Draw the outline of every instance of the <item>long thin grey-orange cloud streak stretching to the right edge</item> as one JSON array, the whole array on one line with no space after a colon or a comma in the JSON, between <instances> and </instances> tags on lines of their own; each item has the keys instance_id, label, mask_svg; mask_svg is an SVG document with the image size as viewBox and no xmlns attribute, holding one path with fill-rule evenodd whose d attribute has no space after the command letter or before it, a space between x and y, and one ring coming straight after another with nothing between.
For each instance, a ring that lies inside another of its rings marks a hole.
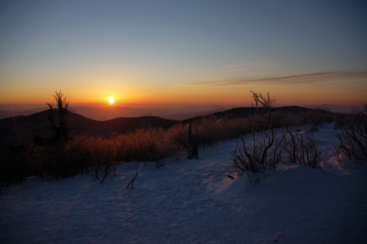
<instances>
[{"instance_id":1,"label":"long thin grey-orange cloud streak stretching to the right edge","mask_svg":"<svg viewBox=\"0 0 367 244\"><path fill-rule=\"evenodd\" d=\"M181 84L174 86L185 85L200 85L200 86L228 86L228 85L290 85L290 84L314 84L324 81L335 80L350 80L358 78L367 78L367 71L363 72L320 72L308 74L295 74L290 76L275 76L275 77L258 77L252 79L228 79L215 80L199 83Z\"/></svg>"}]
</instances>

